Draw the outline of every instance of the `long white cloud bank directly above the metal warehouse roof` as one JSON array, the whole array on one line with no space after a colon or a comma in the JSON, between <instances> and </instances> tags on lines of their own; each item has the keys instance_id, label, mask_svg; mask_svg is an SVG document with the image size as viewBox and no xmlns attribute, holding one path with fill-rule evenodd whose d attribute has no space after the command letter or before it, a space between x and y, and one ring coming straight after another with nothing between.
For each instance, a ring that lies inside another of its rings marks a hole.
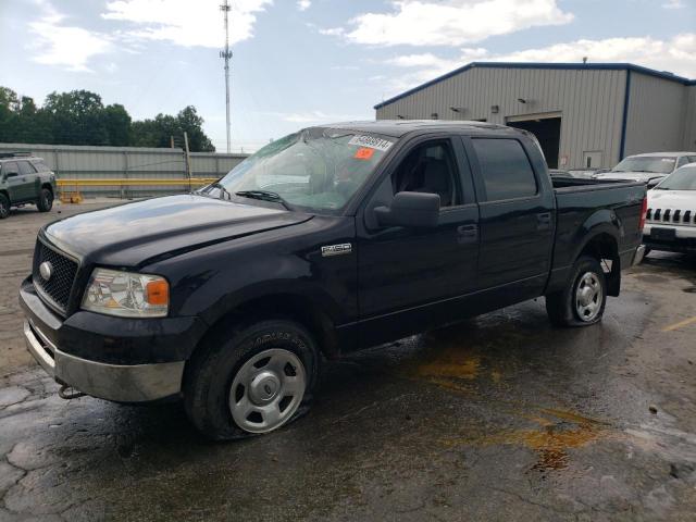
<instances>
[{"instance_id":1,"label":"long white cloud bank directly above the metal warehouse roof","mask_svg":"<svg viewBox=\"0 0 696 522\"><path fill-rule=\"evenodd\" d=\"M409 70L407 74L396 76L398 79L389 83L387 87L393 92L399 92L473 61L581 63L583 57L587 57L589 63L629 62L696 78L696 33L676 35L669 40L650 37L583 39L511 53L494 53L482 48L463 48L453 59L437 57L433 53L406 54L386 61L389 65Z\"/></svg>"}]
</instances>

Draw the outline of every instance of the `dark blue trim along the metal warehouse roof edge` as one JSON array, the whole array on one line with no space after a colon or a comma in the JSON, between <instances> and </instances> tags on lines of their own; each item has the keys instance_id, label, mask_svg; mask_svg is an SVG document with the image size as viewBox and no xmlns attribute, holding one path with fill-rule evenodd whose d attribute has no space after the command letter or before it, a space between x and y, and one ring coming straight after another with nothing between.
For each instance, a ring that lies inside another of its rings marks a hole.
<instances>
[{"instance_id":1,"label":"dark blue trim along the metal warehouse roof edge","mask_svg":"<svg viewBox=\"0 0 696 522\"><path fill-rule=\"evenodd\" d=\"M418 87L413 87L412 89L407 90L406 92L401 92L388 100L383 101L382 103L377 103L374 105L374 109L381 109L385 105L394 103L401 98L406 98L407 96L412 95L413 92L418 92L419 90L423 90L432 85L439 84L440 82L451 78L452 76L457 76L458 74L465 73L471 69L543 69L543 70L557 70L557 71L633 71L635 73L647 74L648 76L655 76L657 78L669 79L671 82L676 82L682 85L696 85L696 79L688 79L682 76L676 76L671 73L666 73L662 71L656 71L654 69L644 67L642 65L634 65L633 63L517 63L517 62L472 62L463 67L456 69L455 71L450 71L443 76L438 76L437 78L431 79Z\"/></svg>"}]
</instances>

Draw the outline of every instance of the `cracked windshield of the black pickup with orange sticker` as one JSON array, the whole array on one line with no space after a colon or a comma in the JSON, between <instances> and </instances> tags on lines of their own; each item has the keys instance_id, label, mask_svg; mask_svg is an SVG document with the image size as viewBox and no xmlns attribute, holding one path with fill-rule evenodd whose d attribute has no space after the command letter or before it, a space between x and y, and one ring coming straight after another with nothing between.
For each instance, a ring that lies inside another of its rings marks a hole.
<instances>
[{"instance_id":1,"label":"cracked windshield of the black pickup with orange sticker","mask_svg":"<svg viewBox=\"0 0 696 522\"><path fill-rule=\"evenodd\" d=\"M263 147L199 194L338 211L394 145L391 138L312 127Z\"/></svg>"}]
</instances>

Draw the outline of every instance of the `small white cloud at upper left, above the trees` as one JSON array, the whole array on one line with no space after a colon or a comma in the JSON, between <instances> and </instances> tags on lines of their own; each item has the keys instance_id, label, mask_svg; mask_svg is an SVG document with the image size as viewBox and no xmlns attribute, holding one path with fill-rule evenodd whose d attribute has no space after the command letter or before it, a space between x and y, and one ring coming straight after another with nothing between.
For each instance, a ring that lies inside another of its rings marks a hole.
<instances>
[{"instance_id":1,"label":"small white cloud at upper left, above the trees","mask_svg":"<svg viewBox=\"0 0 696 522\"><path fill-rule=\"evenodd\" d=\"M47 1L36 2L44 15L29 22L32 60L75 72L91 72L92 57L113 50L110 37L65 24L65 16Z\"/></svg>"}]
</instances>

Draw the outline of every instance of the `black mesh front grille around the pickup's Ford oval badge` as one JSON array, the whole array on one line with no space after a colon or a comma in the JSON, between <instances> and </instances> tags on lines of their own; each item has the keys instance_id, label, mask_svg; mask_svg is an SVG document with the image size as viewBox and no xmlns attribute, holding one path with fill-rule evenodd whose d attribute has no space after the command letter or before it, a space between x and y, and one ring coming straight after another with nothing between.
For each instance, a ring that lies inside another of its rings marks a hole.
<instances>
[{"instance_id":1,"label":"black mesh front grille around the pickup's Ford oval badge","mask_svg":"<svg viewBox=\"0 0 696 522\"><path fill-rule=\"evenodd\" d=\"M48 261L53 268L49 281L44 279L39 266ZM67 309L67 301L73 289L73 283L77 275L77 262L47 247L40 240L36 241L34 250L34 286L44 298L48 298L49 304L53 304L61 312Z\"/></svg>"}]
</instances>

